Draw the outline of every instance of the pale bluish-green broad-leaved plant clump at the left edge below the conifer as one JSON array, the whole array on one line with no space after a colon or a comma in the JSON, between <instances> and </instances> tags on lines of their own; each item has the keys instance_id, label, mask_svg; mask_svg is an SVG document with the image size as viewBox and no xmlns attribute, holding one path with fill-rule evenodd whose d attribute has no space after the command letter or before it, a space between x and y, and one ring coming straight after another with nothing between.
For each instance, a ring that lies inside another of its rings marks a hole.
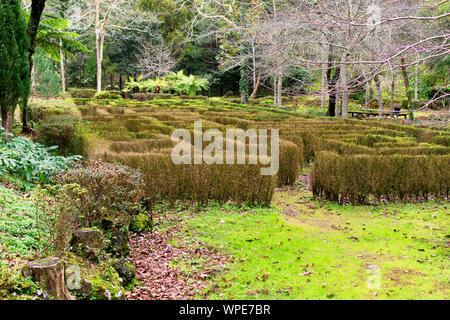
<instances>
[{"instance_id":1,"label":"pale bluish-green broad-leaved plant clump at the left edge below the conifer","mask_svg":"<svg viewBox=\"0 0 450 320\"><path fill-rule=\"evenodd\" d=\"M25 137L5 139L0 128L0 173L23 180L26 186L45 183L57 171L68 169L80 156L62 157L53 153L58 147L46 148Z\"/></svg>"}]
</instances>

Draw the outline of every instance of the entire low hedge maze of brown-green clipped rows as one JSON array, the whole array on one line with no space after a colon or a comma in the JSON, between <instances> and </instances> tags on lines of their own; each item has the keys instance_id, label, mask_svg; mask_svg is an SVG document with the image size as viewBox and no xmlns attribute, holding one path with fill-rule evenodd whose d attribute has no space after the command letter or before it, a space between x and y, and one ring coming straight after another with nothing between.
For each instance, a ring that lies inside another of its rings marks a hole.
<instances>
[{"instance_id":1,"label":"entire low hedge maze of brown-green clipped rows","mask_svg":"<svg viewBox=\"0 0 450 320\"><path fill-rule=\"evenodd\" d=\"M141 169L149 197L268 204L274 188L293 185L305 163L313 165L314 195L339 203L418 201L449 193L448 129L311 118L203 97L75 102L88 121L89 157ZM260 163L174 165L172 132L182 128L193 133L197 120L203 121L203 130L279 129L278 175L261 176Z\"/></svg>"}]
</instances>

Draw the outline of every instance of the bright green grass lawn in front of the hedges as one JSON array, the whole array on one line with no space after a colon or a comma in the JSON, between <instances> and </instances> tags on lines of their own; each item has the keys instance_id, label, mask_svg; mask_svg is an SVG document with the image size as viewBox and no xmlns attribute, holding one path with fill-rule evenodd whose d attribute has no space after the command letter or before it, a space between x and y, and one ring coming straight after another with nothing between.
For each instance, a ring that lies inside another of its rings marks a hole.
<instances>
[{"instance_id":1,"label":"bright green grass lawn in front of the hedges","mask_svg":"<svg viewBox=\"0 0 450 320\"><path fill-rule=\"evenodd\" d=\"M189 213L186 234L234 258L209 298L448 298L448 202L342 207L297 189L273 204Z\"/></svg>"}]
</instances>

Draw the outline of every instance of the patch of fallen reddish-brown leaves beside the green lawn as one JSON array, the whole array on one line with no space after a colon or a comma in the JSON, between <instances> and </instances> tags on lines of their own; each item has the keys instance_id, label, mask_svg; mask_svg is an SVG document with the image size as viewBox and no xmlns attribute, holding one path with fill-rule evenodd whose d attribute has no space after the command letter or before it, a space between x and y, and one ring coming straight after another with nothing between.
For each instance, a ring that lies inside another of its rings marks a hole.
<instances>
[{"instance_id":1,"label":"patch of fallen reddish-brown leaves beside the green lawn","mask_svg":"<svg viewBox=\"0 0 450 320\"><path fill-rule=\"evenodd\" d=\"M227 264L228 257L213 248L182 236L183 222L175 214L156 217L156 225L171 227L131 239L131 257L136 265L138 285L127 292L127 300L189 300L202 295L207 280ZM183 242L177 240L183 239ZM189 239L189 240L187 240ZM177 243L177 244L172 244ZM199 271L184 272L182 266L197 265Z\"/></svg>"}]
</instances>

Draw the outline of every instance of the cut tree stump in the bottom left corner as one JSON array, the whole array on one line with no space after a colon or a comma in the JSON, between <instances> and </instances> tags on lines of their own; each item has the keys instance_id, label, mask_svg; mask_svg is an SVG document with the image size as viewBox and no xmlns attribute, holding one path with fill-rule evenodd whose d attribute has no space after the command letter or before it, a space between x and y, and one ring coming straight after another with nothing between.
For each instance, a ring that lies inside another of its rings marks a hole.
<instances>
[{"instance_id":1,"label":"cut tree stump in the bottom left corner","mask_svg":"<svg viewBox=\"0 0 450 320\"><path fill-rule=\"evenodd\" d=\"M75 300L64 281L64 262L56 257L29 262L24 269L25 276L32 276L43 283L55 300Z\"/></svg>"}]
</instances>

